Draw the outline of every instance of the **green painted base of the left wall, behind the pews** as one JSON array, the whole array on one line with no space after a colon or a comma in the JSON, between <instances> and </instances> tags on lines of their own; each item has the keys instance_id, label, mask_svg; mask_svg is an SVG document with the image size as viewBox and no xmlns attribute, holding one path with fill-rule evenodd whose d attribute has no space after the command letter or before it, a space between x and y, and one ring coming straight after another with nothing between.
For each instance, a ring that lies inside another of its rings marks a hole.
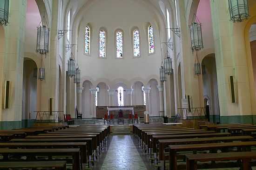
<instances>
[{"instance_id":1,"label":"green painted base of the left wall, behind the pews","mask_svg":"<svg viewBox=\"0 0 256 170\"><path fill-rule=\"evenodd\" d=\"M31 127L34 124L34 120L21 120L21 121L0 121L1 130L20 129L25 127Z\"/></svg>"}]
</instances>

